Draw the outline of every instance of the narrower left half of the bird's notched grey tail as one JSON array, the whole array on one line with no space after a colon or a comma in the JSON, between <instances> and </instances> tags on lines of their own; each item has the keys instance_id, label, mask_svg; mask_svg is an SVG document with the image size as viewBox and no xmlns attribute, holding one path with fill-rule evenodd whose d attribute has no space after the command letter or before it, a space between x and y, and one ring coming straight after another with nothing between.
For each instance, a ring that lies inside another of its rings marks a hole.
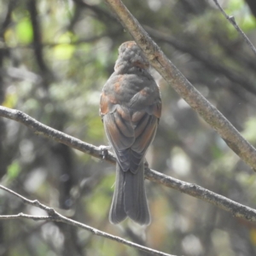
<instances>
[{"instance_id":1,"label":"narrower left half of the bird's notched grey tail","mask_svg":"<svg viewBox=\"0 0 256 256\"><path fill-rule=\"evenodd\" d=\"M119 224L119 222L127 217L124 207L124 183L125 172L122 171L121 167L117 163L113 201L109 212L109 221L112 224Z\"/></svg>"}]
</instances>

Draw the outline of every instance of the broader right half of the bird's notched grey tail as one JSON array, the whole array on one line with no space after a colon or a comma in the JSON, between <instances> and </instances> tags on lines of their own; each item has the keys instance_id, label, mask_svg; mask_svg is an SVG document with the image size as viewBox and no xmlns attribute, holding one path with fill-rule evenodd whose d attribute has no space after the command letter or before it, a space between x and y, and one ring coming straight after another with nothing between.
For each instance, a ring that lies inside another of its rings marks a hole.
<instances>
[{"instance_id":1,"label":"broader right half of the bird's notched grey tail","mask_svg":"<svg viewBox=\"0 0 256 256\"><path fill-rule=\"evenodd\" d=\"M144 187L144 164L138 167L137 173L125 172L124 199L125 212L138 224L150 224L147 196Z\"/></svg>"}]
</instances>

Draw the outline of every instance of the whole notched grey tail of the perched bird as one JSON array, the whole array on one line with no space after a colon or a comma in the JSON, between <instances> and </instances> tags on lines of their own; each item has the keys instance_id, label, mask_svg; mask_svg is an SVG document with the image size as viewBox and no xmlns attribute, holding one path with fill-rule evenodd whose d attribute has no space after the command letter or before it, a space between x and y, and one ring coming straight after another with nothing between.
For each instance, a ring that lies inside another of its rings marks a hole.
<instances>
[{"instance_id":1,"label":"whole notched grey tail of the perched bird","mask_svg":"<svg viewBox=\"0 0 256 256\"><path fill-rule=\"evenodd\" d=\"M109 212L109 220L118 224L126 217L138 224L150 224L147 197L144 188L144 165L138 167L137 173L122 171L117 163L115 189Z\"/></svg>"}]
</instances>

